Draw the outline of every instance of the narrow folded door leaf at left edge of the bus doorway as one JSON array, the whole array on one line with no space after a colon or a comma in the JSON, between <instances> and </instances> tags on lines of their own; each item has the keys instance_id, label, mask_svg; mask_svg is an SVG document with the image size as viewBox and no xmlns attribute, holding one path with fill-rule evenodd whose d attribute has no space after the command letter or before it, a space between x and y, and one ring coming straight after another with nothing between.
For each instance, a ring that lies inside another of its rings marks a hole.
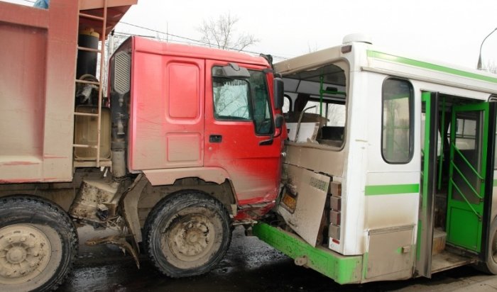
<instances>
[{"instance_id":1,"label":"narrow folded door leaf at left edge of the bus doorway","mask_svg":"<svg viewBox=\"0 0 497 292\"><path fill-rule=\"evenodd\" d=\"M419 221L417 223L416 274L430 278L432 274L433 220L435 211L438 100L437 93L423 92L422 151ZM424 131L424 133L423 133Z\"/></svg>"}]
</instances>

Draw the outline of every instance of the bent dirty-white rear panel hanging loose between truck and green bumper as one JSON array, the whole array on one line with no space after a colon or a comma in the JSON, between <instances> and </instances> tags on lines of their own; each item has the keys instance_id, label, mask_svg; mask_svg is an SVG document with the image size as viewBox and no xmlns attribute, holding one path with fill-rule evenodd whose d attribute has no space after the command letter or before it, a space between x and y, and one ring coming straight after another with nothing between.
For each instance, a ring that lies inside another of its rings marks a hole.
<instances>
[{"instance_id":1,"label":"bent dirty-white rear panel hanging loose between truck and green bumper","mask_svg":"<svg viewBox=\"0 0 497 292\"><path fill-rule=\"evenodd\" d=\"M282 190L277 212L303 240L315 247L326 203L329 176L286 165L288 183Z\"/></svg>"}]
</instances>

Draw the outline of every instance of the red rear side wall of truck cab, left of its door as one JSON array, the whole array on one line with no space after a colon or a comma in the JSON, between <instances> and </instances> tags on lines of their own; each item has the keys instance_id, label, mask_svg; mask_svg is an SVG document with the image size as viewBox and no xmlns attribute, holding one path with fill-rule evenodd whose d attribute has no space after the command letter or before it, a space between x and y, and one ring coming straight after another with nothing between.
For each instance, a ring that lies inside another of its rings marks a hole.
<instances>
[{"instance_id":1,"label":"red rear side wall of truck cab, left of its door","mask_svg":"<svg viewBox=\"0 0 497 292\"><path fill-rule=\"evenodd\" d=\"M153 45L136 39L130 169L202 167L204 60L159 55Z\"/></svg>"}]
</instances>

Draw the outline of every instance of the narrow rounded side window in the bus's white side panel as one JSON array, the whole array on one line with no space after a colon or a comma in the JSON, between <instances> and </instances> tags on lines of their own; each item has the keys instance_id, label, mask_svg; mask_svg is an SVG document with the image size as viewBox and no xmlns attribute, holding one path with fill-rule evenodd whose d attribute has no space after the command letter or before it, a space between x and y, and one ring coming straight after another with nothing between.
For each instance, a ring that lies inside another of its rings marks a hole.
<instances>
[{"instance_id":1,"label":"narrow rounded side window in the bus's white side panel","mask_svg":"<svg viewBox=\"0 0 497 292\"><path fill-rule=\"evenodd\" d=\"M413 86L386 79L382 90L381 154L388 163L408 163L413 157Z\"/></svg>"}]
</instances>

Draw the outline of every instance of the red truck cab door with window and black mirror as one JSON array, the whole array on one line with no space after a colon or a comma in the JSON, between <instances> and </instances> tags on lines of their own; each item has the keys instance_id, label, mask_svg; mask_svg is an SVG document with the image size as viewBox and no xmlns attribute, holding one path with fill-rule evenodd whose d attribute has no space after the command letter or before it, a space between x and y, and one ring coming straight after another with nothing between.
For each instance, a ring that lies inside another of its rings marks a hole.
<instances>
[{"instance_id":1,"label":"red truck cab door with window and black mirror","mask_svg":"<svg viewBox=\"0 0 497 292\"><path fill-rule=\"evenodd\" d=\"M251 77L221 77L226 62L207 60L205 69L204 166L225 169L239 205L273 201L280 176L280 137L263 67L239 64ZM214 72L214 74L213 74ZM269 82L271 84L269 84ZM270 85L270 86L268 86Z\"/></svg>"}]
</instances>

